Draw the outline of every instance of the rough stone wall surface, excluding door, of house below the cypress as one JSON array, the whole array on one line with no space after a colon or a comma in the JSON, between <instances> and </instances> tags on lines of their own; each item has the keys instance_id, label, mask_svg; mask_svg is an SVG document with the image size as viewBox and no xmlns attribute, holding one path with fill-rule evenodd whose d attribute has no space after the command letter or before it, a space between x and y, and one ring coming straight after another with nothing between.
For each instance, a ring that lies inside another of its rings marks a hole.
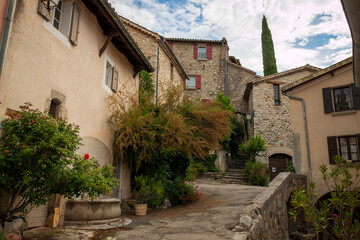
<instances>
[{"instance_id":1,"label":"rough stone wall surface, excluding door, of house below the cypress","mask_svg":"<svg viewBox=\"0 0 360 240\"><path fill-rule=\"evenodd\" d=\"M268 164L269 157L276 153L287 154L294 157L293 135L290 124L289 98L280 92L280 105L274 102L273 84L279 84L280 89L311 72L300 71L283 77L278 77L269 82L255 83L252 91L252 109L254 117L252 126L254 135L259 134L267 144L267 151L258 157L258 160ZM260 79L261 81L261 79Z\"/></svg>"}]
</instances>

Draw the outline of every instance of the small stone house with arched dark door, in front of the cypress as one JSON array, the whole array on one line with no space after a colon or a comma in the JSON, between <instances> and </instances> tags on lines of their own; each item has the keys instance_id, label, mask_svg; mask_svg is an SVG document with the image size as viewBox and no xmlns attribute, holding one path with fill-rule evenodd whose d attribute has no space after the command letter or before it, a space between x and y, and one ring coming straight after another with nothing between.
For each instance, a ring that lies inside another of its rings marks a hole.
<instances>
[{"instance_id":1,"label":"small stone house with arched dark door, in front of the cypress","mask_svg":"<svg viewBox=\"0 0 360 240\"><path fill-rule=\"evenodd\" d=\"M269 165L270 179L285 170L285 159L294 158L295 139L290 124L289 99L281 94L280 89L318 70L305 65L259 78L247 85L244 98L249 104L251 134L259 134L267 143L267 151L258 160Z\"/></svg>"}]
</instances>

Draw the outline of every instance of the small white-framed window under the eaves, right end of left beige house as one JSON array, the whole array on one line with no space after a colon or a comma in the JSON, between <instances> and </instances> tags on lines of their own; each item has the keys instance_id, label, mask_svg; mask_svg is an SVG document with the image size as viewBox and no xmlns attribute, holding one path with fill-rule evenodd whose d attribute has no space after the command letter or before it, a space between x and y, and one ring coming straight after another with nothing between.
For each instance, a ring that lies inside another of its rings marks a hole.
<instances>
[{"instance_id":1,"label":"small white-framed window under the eaves, right end of left beige house","mask_svg":"<svg viewBox=\"0 0 360 240\"><path fill-rule=\"evenodd\" d=\"M114 62L105 54L105 72L103 88L109 93L117 92L119 84L119 71L114 67Z\"/></svg>"}]
</instances>

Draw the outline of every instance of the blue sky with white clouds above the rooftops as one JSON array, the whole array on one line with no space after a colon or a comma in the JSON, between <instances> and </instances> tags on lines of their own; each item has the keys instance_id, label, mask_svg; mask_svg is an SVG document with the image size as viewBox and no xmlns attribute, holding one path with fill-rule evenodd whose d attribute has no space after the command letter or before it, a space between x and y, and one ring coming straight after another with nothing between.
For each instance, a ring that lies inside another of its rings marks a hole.
<instances>
[{"instance_id":1,"label":"blue sky with white clouds above the rooftops","mask_svg":"<svg viewBox=\"0 0 360 240\"><path fill-rule=\"evenodd\" d=\"M118 14L164 37L228 41L229 54L263 75L265 15L278 72L324 68L352 55L340 0L108 0Z\"/></svg>"}]
</instances>

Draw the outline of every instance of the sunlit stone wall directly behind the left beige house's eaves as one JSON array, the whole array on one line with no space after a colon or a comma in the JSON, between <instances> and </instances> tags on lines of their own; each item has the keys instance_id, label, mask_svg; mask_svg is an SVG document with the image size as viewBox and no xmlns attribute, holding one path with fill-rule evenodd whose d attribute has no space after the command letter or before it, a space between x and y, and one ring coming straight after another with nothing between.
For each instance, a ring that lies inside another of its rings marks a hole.
<instances>
[{"instance_id":1,"label":"sunlit stone wall directly behind the left beige house's eaves","mask_svg":"<svg viewBox=\"0 0 360 240\"><path fill-rule=\"evenodd\" d=\"M155 34L148 34L146 33L146 30L141 30L139 27L135 27L134 24L128 23L126 20L123 22L131 37L135 40L151 65L155 68L152 77L154 80L154 87L156 87L156 73L158 66L157 51L158 47L161 45L160 37ZM173 65L173 71L171 71L171 65ZM170 60L168 53L166 52L166 46L163 44L159 54L159 100L163 100L163 93L165 93L171 85L182 86L184 80L185 78L181 77L175 63Z\"/></svg>"}]
</instances>

